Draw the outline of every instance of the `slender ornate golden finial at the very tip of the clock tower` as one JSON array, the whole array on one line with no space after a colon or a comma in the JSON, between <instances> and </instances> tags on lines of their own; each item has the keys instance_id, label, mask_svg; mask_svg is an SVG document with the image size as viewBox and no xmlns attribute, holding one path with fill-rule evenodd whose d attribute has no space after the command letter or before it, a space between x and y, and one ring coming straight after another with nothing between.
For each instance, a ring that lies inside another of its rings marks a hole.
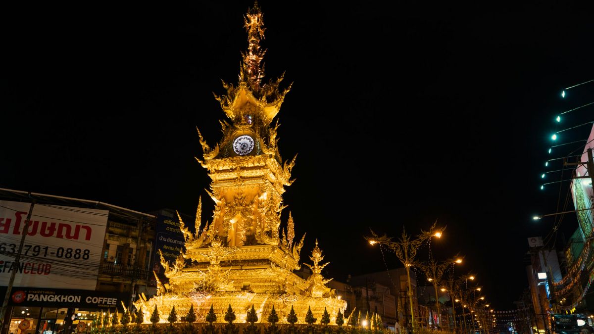
<instances>
[{"instance_id":1,"label":"slender ornate golden finial at the very tip of the clock tower","mask_svg":"<svg viewBox=\"0 0 594 334\"><path fill-rule=\"evenodd\" d=\"M258 1L254 1L254 7L248 8L244 17L245 30L248 32L248 50L243 53L244 62L239 80L245 80L254 90L260 89L260 81L264 77L264 59L266 50L260 50L260 40L264 39L263 14L258 7ZM243 78L242 78L243 77Z\"/></svg>"}]
</instances>

